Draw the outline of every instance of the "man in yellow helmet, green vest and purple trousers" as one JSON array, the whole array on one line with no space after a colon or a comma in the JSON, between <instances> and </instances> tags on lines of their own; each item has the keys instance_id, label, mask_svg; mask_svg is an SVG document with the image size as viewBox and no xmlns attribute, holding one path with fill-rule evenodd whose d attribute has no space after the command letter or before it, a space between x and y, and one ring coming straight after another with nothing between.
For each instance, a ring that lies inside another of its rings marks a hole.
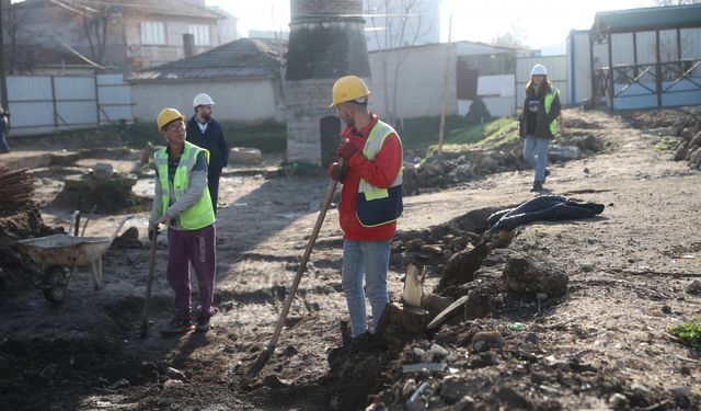
<instances>
[{"instance_id":1,"label":"man in yellow helmet, green vest and purple trousers","mask_svg":"<svg viewBox=\"0 0 701 411\"><path fill-rule=\"evenodd\" d=\"M153 155L156 191L149 217L149 238L159 225L168 227L168 283L175 294L175 317L162 334L209 330L215 309L217 254L215 212L207 189L209 151L185 141L185 117L175 109L158 115L158 130L168 146ZM197 274L199 309L193 327L189 265Z\"/></svg>"}]
</instances>

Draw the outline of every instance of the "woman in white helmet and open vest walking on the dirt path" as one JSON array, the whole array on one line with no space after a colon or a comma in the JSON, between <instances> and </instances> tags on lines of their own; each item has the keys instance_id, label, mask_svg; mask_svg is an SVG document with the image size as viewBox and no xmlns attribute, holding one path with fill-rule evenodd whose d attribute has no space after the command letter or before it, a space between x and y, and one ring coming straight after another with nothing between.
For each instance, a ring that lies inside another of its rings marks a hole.
<instances>
[{"instance_id":1,"label":"woman in white helmet and open vest walking on the dirt path","mask_svg":"<svg viewBox=\"0 0 701 411\"><path fill-rule=\"evenodd\" d=\"M526 83L526 100L520 117L519 132L524 138L524 158L531 164L536 175L532 192L543 190L548 171L548 146L558 135L560 117L560 90L548 79L543 65L536 65Z\"/></svg>"}]
</instances>

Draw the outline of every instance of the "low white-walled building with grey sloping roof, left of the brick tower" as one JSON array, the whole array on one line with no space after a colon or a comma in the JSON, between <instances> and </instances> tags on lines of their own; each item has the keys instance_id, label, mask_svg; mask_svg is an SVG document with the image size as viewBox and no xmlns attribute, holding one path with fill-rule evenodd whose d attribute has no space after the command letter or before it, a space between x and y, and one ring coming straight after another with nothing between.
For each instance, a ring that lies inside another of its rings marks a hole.
<instances>
[{"instance_id":1,"label":"low white-walled building with grey sloping roof, left of the brick tower","mask_svg":"<svg viewBox=\"0 0 701 411\"><path fill-rule=\"evenodd\" d=\"M151 122L163 107L193 113L193 98L208 93L216 118L237 123L283 122L277 42L241 38L209 52L135 72L134 119Z\"/></svg>"}]
</instances>

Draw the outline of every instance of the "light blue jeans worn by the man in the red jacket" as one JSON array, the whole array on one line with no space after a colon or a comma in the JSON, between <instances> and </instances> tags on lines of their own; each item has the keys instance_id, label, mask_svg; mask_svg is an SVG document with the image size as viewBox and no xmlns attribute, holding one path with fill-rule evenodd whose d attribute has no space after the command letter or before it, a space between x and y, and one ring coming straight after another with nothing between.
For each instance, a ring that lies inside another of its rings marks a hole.
<instances>
[{"instance_id":1,"label":"light blue jeans worn by the man in the red jacket","mask_svg":"<svg viewBox=\"0 0 701 411\"><path fill-rule=\"evenodd\" d=\"M343 293L348 304L350 316L350 336L357 336L368 330L365 310L365 292L363 277L367 288L370 307L372 307L372 328L384 311L390 298L387 294L387 271L390 265L391 241L352 241L343 240Z\"/></svg>"}]
</instances>

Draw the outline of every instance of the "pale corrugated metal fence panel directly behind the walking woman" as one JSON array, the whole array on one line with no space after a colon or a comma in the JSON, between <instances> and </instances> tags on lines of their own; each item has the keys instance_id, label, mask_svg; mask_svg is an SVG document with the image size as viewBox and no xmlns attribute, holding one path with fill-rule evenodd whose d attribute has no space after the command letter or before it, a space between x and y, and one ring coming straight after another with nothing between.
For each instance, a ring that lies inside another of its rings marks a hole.
<instances>
[{"instance_id":1,"label":"pale corrugated metal fence panel directly behind the walking woman","mask_svg":"<svg viewBox=\"0 0 701 411\"><path fill-rule=\"evenodd\" d=\"M516 59L516 106L524 106L526 83L530 80L530 70L540 62L548 69L548 78L560 89L560 102L564 105L567 98L567 56L519 57Z\"/></svg>"}]
</instances>

